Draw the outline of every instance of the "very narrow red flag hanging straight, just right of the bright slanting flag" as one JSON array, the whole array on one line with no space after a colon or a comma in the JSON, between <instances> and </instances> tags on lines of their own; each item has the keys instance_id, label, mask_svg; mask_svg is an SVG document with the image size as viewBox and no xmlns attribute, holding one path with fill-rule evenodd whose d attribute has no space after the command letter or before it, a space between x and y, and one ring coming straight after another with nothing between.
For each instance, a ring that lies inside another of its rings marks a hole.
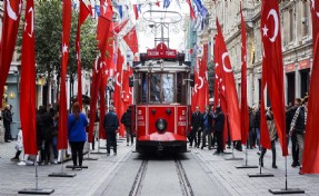
<instances>
[{"instance_id":1,"label":"very narrow red flag hanging straight, just right of the bright slanting flag","mask_svg":"<svg viewBox=\"0 0 319 196\"><path fill-rule=\"evenodd\" d=\"M240 2L241 19L241 89L240 89L240 119L241 119L241 143L247 143L249 134L249 111L247 104L247 48L246 48L246 24L242 16L242 4Z\"/></svg>"}]
</instances>

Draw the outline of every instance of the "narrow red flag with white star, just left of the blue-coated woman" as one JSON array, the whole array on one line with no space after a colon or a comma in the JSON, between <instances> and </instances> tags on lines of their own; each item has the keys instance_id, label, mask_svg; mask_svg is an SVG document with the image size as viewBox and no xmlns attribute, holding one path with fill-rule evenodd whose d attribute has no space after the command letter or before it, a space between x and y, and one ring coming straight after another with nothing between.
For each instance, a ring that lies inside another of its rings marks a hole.
<instances>
[{"instance_id":1,"label":"narrow red flag with white star, just left of the blue-coated woman","mask_svg":"<svg viewBox=\"0 0 319 196\"><path fill-rule=\"evenodd\" d=\"M62 65L61 65L61 85L60 85L60 106L59 106L59 134L58 149L68 148L68 111L67 111L67 66L69 58L69 40L71 29L71 0L63 0L62 8Z\"/></svg>"}]
</instances>

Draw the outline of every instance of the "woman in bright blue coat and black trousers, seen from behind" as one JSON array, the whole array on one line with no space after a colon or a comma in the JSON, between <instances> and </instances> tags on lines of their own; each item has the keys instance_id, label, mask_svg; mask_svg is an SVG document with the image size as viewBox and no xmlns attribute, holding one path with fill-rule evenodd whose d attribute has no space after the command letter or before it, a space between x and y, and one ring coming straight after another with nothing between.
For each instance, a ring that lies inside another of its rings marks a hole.
<instances>
[{"instance_id":1,"label":"woman in bright blue coat and black trousers, seen from behind","mask_svg":"<svg viewBox=\"0 0 319 196\"><path fill-rule=\"evenodd\" d=\"M81 170L83 160L83 147L87 141L86 127L88 126L88 119L84 114L81 112L79 102L74 102L72 106L72 112L68 117L68 135L71 146L73 168ZM78 163L79 160L79 163Z\"/></svg>"}]
</instances>

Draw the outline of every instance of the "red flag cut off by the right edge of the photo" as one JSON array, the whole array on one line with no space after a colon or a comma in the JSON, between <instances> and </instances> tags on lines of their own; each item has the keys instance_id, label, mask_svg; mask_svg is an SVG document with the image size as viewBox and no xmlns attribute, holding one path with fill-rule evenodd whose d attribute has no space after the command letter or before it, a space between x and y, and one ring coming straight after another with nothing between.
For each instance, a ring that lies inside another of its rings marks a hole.
<instances>
[{"instance_id":1,"label":"red flag cut off by the right edge of the photo","mask_svg":"<svg viewBox=\"0 0 319 196\"><path fill-rule=\"evenodd\" d=\"M311 1L313 63L302 157L302 174L319 174L319 1Z\"/></svg>"}]
</instances>

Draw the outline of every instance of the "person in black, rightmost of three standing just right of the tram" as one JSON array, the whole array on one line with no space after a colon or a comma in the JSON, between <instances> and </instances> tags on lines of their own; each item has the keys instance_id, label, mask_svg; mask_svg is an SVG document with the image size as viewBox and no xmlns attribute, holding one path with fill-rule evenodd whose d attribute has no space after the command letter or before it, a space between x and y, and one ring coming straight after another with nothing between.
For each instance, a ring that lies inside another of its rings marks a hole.
<instances>
[{"instance_id":1,"label":"person in black, rightmost of three standing just right of the tram","mask_svg":"<svg viewBox=\"0 0 319 196\"><path fill-rule=\"evenodd\" d=\"M213 154L219 155L220 153L223 151L222 133L223 133L223 126L225 126L225 115L222 114L220 107L216 108L216 112L212 118L215 120L213 131L217 138L217 150Z\"/></svg>"}]
</instances>

